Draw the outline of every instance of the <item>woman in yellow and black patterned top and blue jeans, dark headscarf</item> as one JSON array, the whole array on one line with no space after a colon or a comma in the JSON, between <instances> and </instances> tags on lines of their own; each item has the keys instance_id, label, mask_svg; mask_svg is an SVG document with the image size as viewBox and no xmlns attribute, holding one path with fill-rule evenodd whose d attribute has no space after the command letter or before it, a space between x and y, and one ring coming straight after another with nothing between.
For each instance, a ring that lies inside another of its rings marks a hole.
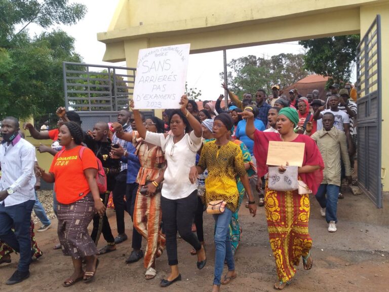
<instances>
[{"instance_id":1,"label":"woman in yellow and black patterned top and blue jeans, dark headscarf","mask_svg":"<svg viewBox=\"0 0 389 292\"><path fill-rule=\"evenodd\" d=\"M243 186L248 190L250 213L253 216L256 213L256 205L251 193L242 151L237 144L227 138L227 133L232 125L234 122L226 113L215 117L212 131L216 140L203 145L199 163L197 166L193 166L189 173L189 179L193 184L198 174L208 169L208 177L205 179L206 204L215 200L226 202L224 212L213 215L216 223L213 292L219 291L220 284L228 284L237 276L228 232L232 213L237 210L239 202L236 176L241 178ZM224 260L227 262L228 272L221 280Z\"/></svg>"}]
</instances>

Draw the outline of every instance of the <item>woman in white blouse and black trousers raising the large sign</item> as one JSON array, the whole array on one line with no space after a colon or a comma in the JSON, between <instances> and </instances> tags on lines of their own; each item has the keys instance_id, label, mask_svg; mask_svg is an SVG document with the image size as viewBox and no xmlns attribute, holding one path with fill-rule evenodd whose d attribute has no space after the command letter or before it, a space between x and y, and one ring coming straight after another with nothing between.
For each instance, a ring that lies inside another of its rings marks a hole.
<instances>
[{"instance_id":1,"label":"woman in white blouse and black trousers raising the large sign","mask_svg":"<svg viewBox=\"0 0 389 292\"><path fill-rule=\"evenodd\" d=\"M139 136L146 143L161 147L167 161L161 190L161 207L171 273L166 279L162 279L160 284L162 287L181 280L177 258L177 231L182 239L196 249L198 269L204 268L207 262L204 246L191 230L198 199L197 185L191 184L189 180L190 167L195 165L196 154L202 145L203 130L199 121L187 111L187 104L188 98L183 95L180 101L181 108L171 112L169 116L171 134L147 131L139 111L133 109ZM133 107L133 102L130 103L130 107ZM122 139L132 139L130 133L122 133L120 129L116 133Z\"/></svg>"}]
</instances>

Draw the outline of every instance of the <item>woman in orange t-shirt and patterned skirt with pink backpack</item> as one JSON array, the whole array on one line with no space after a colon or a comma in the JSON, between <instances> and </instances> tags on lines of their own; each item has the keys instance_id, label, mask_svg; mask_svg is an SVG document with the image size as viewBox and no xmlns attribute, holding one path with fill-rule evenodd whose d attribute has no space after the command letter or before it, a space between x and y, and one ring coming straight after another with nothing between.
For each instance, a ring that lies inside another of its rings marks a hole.
<instances>
[{"instance_id":1,"label":"woman in orange t-shirt and patterned skirt with pink backpack","mask_svg":"<svg viewBox=\"0 0 389 292\"><path fill-rule=\"evenodd\" d=\"M83 131L74 122L59 128L58 141L64 147L58 152L46 173L40 174L46 182L55 181L58 200L58 238L64 255L72 258L74 273L62 285L93 279L98 250L88 233L88 225L97 212L102 216L105 206L100 200L96 182L97 160L93 152L81 146ZM86 262L86 271L82 261Z\"/></svg>"}]
</instances>

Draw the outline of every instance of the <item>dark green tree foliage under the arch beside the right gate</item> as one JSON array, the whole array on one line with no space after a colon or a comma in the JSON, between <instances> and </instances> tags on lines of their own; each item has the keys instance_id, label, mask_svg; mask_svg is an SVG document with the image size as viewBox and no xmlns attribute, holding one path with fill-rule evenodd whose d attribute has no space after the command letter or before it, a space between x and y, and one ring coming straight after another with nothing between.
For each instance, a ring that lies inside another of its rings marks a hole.
<instances>
[{"instance_id":1,"label":"dark green tree foliage under the arch beside the right gate","mask_svg":"<svg viewBox=\"0 0 389 292\"><path fill-rule=\"evenodd\" d=\"M331 83L345 83L351 77L359 42L359 34L351 34L298 43L307 50L304 55L307 70L330 77Z\"/></svg>"}]
</instances>

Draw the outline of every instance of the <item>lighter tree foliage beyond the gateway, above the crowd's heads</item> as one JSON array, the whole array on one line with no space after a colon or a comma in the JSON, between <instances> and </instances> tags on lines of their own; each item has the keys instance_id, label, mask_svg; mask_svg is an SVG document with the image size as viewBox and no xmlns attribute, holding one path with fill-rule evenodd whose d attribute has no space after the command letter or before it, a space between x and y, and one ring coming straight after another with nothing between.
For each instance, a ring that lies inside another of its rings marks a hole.
<instances>
[{"instance_id":1,"label":"lighter tree foliage beyond the gateway, above the crowd's heads","mask_svg":"<svg viewBox=\"0 0 389 292\"><path fill-rule=\"evenodd\" d=\"M260 88L270 92L274 84L284 88L308 75L302 54L279 54L269 59L249 55L232 59L227 66L228 87L238 96ZM220 78L223 76L221 72Z\"/></svg>"}]
</instances>

